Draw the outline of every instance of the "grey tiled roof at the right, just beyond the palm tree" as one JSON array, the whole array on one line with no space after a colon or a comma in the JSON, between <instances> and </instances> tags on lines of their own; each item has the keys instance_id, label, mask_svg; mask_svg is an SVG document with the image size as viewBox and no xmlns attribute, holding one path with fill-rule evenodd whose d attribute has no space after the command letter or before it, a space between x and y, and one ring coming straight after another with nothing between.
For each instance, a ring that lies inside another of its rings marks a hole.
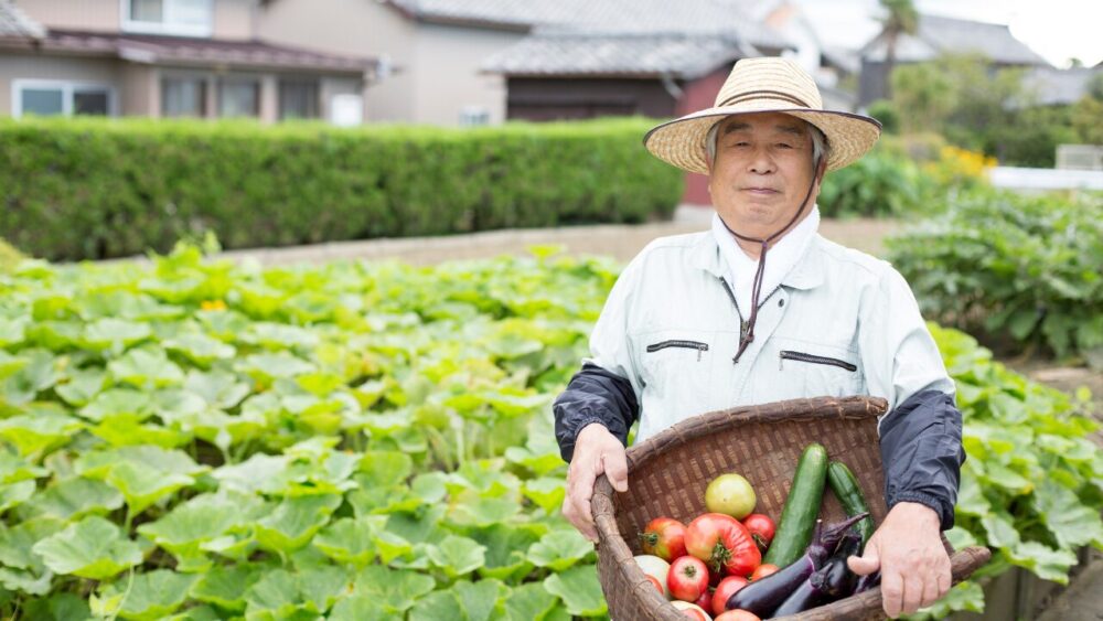
<instances>
[{"instance_id":1,"label":"grey tiled roof at the right, just beyond the palm tree","mask_svg":"<svg viewBox=\"0 0 1103 621\"><path fill-rule=\"evenodd\" d=\"M897 42L897 60L903 62L928 61L946 52L979 52L996 63L1049 66L1046 58L1015 39L1003 24L920 15L918 32L902 35ZM869 61L885 60L882 36L867 44L863 54Z\"/></svg>"}]
</instances>

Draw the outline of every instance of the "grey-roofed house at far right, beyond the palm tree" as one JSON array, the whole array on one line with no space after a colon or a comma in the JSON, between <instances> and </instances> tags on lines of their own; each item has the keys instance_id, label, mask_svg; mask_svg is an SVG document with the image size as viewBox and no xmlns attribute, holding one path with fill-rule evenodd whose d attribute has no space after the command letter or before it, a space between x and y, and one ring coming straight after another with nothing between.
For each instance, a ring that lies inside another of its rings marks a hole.
<instances>
[{"instance_id":1,"label":"grey-roofed house at far right, beyond the palm tree","mask_svg":"<svg viewBox=\"0 0 1103 621\"><path fill-rule=\"evenodd\" d=\"M888 35L882 31L861 49L861 78L858 103L866 106L885 97ZM1004 24L984 23L938 15L919 15L915 34L901 34L896 44L896 63L933 61L943 54L983 54L994 67L1048 67L1046 58L1015 39Z\"/></svg>"}]
</instances>

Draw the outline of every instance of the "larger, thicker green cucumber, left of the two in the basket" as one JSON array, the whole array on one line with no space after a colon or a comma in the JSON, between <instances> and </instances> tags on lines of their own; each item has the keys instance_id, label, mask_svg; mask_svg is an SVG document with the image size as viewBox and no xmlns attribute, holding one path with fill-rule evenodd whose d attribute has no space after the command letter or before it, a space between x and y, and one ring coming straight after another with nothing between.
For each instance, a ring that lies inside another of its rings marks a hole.
<instances>
[{"instance_id":1,"label":"larger, thicker green cucumber, left of the two in the basket","mask_svg":"<svg viewBox=\"0 0 1103 621\"><path fill-rule=\"evenodd\" d=\"M781 510L778 531L762 563L786 567L804 555L812 543L826 479L827 449L818 443L808 445L796 463L793 485L789 489L785 507Z\"/></svg>"}]
</instances>

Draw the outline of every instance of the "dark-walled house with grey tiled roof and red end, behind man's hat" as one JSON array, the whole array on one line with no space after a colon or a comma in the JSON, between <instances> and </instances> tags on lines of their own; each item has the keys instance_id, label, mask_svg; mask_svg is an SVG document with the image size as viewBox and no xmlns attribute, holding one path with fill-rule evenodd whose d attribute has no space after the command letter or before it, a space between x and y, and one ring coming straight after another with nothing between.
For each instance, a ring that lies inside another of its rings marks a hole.
<instances>
[{"instance_id":1,"label":"dark-walled house with grey tiled roof and red end, behind man's hat","mask_svg":"<svg viewBox=\"0 0 1103 621\"><path fill-rule=\"evenodd\" d=\"M739 58L792 43L740 0L602 0L567 23L540 25L486 58L505 77L506 118L671 118L707 108ZM708 205L707 179L687 173L683 202Z\"/></svg>"}]
</instances>

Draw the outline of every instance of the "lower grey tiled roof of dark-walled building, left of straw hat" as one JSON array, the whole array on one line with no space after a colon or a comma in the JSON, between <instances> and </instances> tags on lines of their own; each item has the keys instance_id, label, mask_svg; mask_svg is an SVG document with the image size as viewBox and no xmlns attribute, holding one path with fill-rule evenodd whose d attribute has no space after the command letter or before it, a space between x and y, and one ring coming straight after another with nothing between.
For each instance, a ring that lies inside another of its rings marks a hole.
<instances>
[{"instance_id":1,"label":"lower grey tiled roof of dark-walled building, left of straw hat","mask_svg":"<svg viewBox=\"0 0 1103 621\"><path fill-rule=\"evenodd\" d=\"M514 76L694 78L722 63L756 54L733 36L546 33L494 54L483 68Z\"/></svg>"}]
</instances>

